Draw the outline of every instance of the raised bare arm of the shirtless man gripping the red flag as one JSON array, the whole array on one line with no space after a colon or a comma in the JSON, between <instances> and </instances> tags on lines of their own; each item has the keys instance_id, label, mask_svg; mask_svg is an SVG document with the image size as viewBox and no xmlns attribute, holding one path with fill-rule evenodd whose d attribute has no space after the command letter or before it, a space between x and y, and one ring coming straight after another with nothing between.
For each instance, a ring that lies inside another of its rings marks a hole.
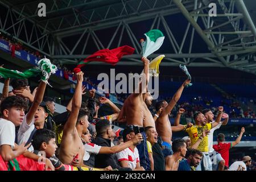
<instances>
[{"instance_id":1,"label":"raised bare arm of the shirtless man gripping the red flag","mask_svg":"<svg viewBox=\"0 0 256 182\"><path fill-rule=\"evenodd\" d=\"M68 117L68 121L65 123L63 134L72 133L75 131L77 117L79 115L79 110L82 104L82 81L84 80L83 76L83 72L76 73L77 84L75 93L73 95L72 111Z\"/></svg>"}]
</instances>

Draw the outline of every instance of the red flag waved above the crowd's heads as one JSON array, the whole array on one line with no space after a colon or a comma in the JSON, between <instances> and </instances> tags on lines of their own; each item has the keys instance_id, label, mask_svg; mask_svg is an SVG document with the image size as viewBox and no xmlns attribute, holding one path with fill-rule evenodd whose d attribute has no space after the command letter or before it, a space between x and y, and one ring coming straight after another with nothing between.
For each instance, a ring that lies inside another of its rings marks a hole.
<instances>
[{"instance_id":1,"label":"red flag waved above the crowd's heads","mask_svg":"<svg viewBox=\"0 0 256 182\"><path fill-rule=\"evenodd\" d=\"M81 61L76 68L82 68L85 64L88 64L90 61L101 61L104 63L115 65L122 58L122 56L132 55L134 51L135 49L130 46L122 46L111 50L102 49L100 51L93 53L93 55L86 57L86 59Z\"/></svg>"}]
</instances>

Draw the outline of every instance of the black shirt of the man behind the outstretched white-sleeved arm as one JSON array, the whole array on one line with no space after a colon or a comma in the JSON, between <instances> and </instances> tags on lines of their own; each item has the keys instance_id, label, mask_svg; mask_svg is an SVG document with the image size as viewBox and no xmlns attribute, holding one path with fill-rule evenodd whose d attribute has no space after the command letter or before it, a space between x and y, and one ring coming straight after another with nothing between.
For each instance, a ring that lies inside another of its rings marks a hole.
<instances>
[{"instance_id":1,"label":"black shirt of the man behind the outstretched white-sleeved arm","mask_svg":"<svg viewBox=\"0 0 256 182\"><path fill-rule=\"evenodd\" d=\"M111 147L111 140L97 136L92 143L98 146ZM131 171L131 168L119 166L114 154L98 154L95 156L94 167L105 168L111 166L113 169L118 169L119 171Z\"/></svg>"}]
</instances>

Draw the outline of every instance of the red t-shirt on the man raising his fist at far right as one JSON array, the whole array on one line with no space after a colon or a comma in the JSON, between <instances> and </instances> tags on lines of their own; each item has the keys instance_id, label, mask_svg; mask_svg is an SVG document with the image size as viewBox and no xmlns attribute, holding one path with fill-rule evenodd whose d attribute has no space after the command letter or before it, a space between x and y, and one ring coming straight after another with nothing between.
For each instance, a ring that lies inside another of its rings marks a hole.
<instances>
[{"instance_id":1,"label":"red t-shirt on the man raising his fist at far right","mask_svg":"<svg viewBox=\"0 0 256 182\"><path fill-rule=\"evenodd\" d=\"M218 143L213 145L213 149L220 153L225 160L225 166L229 167L229 149L232 148L232 143Z\"/></svg>"}]
</instances>

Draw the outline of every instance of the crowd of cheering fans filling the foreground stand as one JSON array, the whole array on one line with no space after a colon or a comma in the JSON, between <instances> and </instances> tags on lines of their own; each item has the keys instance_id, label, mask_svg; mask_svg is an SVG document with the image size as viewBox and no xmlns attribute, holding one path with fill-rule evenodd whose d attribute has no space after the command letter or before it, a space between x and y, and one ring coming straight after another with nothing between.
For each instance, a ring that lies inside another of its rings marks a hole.
<instances>
[{"instance_id":1,"label":"crowd of cheering fans filling the foreground stand","mask_svg":"<svg viewBox=\"0 0 256 182\"><path fill-rule=\"evenodd\" d=\"M142 81L148 83L150 61L142 57L142 62L146 75ZM119 109L106 97L96 98L94 89L86 91L90 97L82 101L84 73L76 73L75 79L75 93L67 111L57 115L55 101L44 97L46 82L40 81L31 92L27 79L5 79L0 105L0 170L251 169L250 156L241 156L241 160L229 164L229 150L240 143L244 127L233 142L225 142L225 135L218 134L218 143L213 145L214 130L229 121L223 106L212 108L210 100L206 103L210 109L188 102L177 104L183 90L189 90L191 80L185 80L170 100L154 104L147 84L140 83L138 92L130 94ZM9 85L13 87L11 92ZM98 115L102 104L108 105L113 114ZM194 125L180 124L184 114L193 117ZM175 117L173 126L170 117ZM122 133L113 130L114 121L125 123ZM173 140L172 135L180 131L185 131L187 137Z\"/></svg>"}]
</instances>

